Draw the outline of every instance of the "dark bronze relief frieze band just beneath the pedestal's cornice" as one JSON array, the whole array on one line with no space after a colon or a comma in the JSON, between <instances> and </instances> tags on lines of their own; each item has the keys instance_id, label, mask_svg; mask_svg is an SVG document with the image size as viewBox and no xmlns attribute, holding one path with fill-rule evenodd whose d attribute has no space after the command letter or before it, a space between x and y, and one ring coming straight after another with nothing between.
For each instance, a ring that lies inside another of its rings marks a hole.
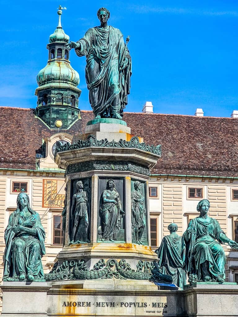
<instances>
[{"instance_id":1,"label":"dark bronze relief frieze band just beneath the pedestal's cornice","mask_svg":"<svg viewBox=\"0 0 238 317\"><path fill-rule=\"evenodd\" d=\"M137 174L149 176L150 171L148 167L126 161L87 161L70 164L66 171L65 176L71 173L87 172L93 170L101 171L130 171Z\"/></svg>"}]
</instances>

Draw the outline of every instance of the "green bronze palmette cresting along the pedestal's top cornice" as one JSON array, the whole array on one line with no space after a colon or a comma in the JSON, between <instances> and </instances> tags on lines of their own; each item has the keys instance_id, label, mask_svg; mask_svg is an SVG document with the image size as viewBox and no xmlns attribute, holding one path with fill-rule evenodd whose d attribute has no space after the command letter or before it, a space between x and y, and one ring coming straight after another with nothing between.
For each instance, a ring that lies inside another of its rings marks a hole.
<instances>
[{"instance_id":1,"label":"green bronze palmette cresting along the pedestal's top cornice","mask_svg":"<svg viewBox=\"0 0 238 317\"><path fill-rule=\"evenodd\" d=\"M113 147L113 148L133 148L142 151L150 152L161 156L161 145L147 145L144 142L140 143L138 137L132 137L130 141L120 139L118 142L115 140L108 141L108 139L97 140L93 134L90 134L86 140L78 140L77 143L64 144L56 148L55 156L58 152L83 149L86 147Z\"/></svg>"}]
</instances>

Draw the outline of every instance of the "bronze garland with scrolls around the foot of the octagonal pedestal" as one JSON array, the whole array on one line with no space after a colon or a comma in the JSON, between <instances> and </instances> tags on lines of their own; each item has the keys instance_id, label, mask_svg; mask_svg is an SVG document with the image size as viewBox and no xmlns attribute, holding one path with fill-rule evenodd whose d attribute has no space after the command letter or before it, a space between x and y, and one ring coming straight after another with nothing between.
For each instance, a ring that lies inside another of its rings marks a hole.
<instances>
[{"instance_id":1,"label":"bronze garland with scrolls around the foot of the octagonal pedestal","mask_svg":"<svg viewBox=\"0 0 238 317\"><path fill-rule=\"evenodd\" d=\"M46 281L62 280L94 280L94 279L133 279L149 280L153 282L171 283L172 277L161 273L157 262L141 261L136 265L136 270L130 267L126 260L109 259L99 260L92 270L87 268L85 260L64 261L62 265L54 265L52 271L45 274Z\"/></svg>"}]
</instances>

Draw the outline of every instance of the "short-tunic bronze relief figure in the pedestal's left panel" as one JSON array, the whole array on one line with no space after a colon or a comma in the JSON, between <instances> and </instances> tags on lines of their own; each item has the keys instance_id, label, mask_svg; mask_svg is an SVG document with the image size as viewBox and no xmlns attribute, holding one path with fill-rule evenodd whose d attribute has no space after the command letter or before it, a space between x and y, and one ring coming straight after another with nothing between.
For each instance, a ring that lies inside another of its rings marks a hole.
<instances>
[{"instance_id":1,"label":"short-tunic bronze relief figure in the pedestal's left panel","mask_svg":"<svg viewBox=\"0 0 238 317\"><path fill-rule=\"evenodd\" d=\"M71 218L74 218L72 239L70 243L90 242L88 239L89 216L88 197L83 190L83 182L76 183L76 194L73 195Z\"/></svg>"}]
</instances>

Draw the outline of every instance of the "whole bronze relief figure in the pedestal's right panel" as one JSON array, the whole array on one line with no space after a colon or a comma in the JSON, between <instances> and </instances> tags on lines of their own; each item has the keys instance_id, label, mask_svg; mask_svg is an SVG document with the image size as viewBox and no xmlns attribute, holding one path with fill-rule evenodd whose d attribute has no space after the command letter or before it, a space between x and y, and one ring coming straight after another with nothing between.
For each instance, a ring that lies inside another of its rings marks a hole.
<instances>
[{"instance_id":1,"label":"whole bronze relief figure in the pedestal's right panel","mask_svg":"<svg viewBox=\"0 0 238 317\"><path fill-rule=\"evenodd\" d=\"M141 182L135 181L134 188L135 191L131 193L131 223L132 229L135 232L136 243L143 244L141 238L146 226L145 197L141 192Z\"/></svg>"}]
</instances>

